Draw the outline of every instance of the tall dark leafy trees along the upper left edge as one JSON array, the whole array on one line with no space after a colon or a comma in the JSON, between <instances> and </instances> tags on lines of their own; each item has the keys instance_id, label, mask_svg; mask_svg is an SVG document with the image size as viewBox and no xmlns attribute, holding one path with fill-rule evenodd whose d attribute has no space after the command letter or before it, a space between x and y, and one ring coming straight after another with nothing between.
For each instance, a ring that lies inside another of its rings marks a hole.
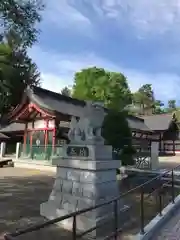
<instances>
[{"instance_id":1,"label":"tall dark leafy trees along the upper left edge","mask_svg":"<svg viewBox=\"0 0 180 240\"><path fill-rule=\"evenodd\" d=\"M40 73L27 54L36 42L41 0L0 1L0 113L19 104L27 85L39 85Z\"/></svg>"}]
</instances>

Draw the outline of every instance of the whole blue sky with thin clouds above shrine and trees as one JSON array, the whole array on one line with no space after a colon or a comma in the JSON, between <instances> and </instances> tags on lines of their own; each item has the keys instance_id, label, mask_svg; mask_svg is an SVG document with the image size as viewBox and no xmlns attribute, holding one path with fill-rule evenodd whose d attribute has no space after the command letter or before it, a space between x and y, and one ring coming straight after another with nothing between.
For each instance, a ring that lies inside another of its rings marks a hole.
<instances>
[{"instance_id":1,"label":"whole blue sky with thin clouds above shrine and trees","mask_svg":"<svg viewBox=\"0 0 180 240\"><path fill-rule=\"evenodd\" d=\"M46 0L47 1L47 0ZM43 87L60 92L90 66L119 71L132 91L180 100L180 0L51 0L29 50Z\"/></svg>"}]
</instances>

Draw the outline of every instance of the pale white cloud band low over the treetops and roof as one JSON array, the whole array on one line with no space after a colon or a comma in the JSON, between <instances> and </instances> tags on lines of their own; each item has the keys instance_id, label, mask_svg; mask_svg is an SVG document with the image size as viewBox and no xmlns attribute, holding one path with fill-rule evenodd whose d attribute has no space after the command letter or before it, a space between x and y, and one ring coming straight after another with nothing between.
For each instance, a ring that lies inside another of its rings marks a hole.
<instances>
[{"instance_id":1,"label":"pale white cloud band low over the treetops and roof","mask_svg":"<svg viewBox=\"0 0 180 240\"><path fill-rule=\"evenodd\" d=\"M73 76L76 71L86 67L103 67L110 71L122 72L127 78L132 91L141 85L151 83L157 98L167 100L178 99L180 92L180 78L176 74L154 73L146 74L134 69L122 68L106 59L102 59L92 53L80 55L55 54L43 52L34 47L30 50L30 56L38 64L42 72L43 87L59 92L64 86L72 86ZM48 59L48 61L45 61Z\"/></svg>"}]
</instances>

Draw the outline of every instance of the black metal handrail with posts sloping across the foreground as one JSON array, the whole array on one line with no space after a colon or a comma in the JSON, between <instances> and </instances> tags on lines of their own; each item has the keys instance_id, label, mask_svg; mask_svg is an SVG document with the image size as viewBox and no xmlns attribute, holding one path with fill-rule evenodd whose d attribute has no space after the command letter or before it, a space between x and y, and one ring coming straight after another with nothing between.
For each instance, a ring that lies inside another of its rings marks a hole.
<instances>
[{"instance_id":1,"label":"black metal handrail with posts sloping across the foreground","mask_svg":"<svg viewBox=\"0 0 180 240\"><path fill-rule=\"evenodd\" d=\"M171 175L170 175L171 176L171 184L172 184L172 189L171 189L172 191L171 191L171 193L172 193L172 203L174 203L174 199L175 199L174 170L176 170L178 167L180 167L180 164L177 165L176 167L174 167L173 169L167 170L164 173L161 173L158 176L156 176L156 177L146 181L145 183L143 183L141 185L138 185L137 187L135 187L133 189L130 189L129 191L127 191L125 193L120 194L118 197L116 197L114 199L111 199L111 200L106 201L106 202L101 203L101 204L97 204L96 206L93 206L93 207L89 207L89 208L85 208L85 209L82 209L82 210L78 210L76 212L67 214L67 215L62 216L62 217L58 217L56 219L48 220L48 221L46 221L46 222L44 222L42 224L36 224L34 226L25 228L23 230L15 231L13 233L7 233L7 234L4 235L4 239L5 240L12 240L13 238L15 238L17 236L20 236L20 235L23 235L23 234L26 234L26 233L30 233L30 232L33 232L33 231L37 231L37 230L40 230L42 228L48 227L49 225L61 222L63 220L69 219L69 218L73 218L72 239L76 240L77 237L84 236L85 234L87 234L87 233L97 229L98 227L100 227L102 225L102 224L100 224L99 226L93 227L92 229L89 229L86 232L83 232L83 234L80 234L78 236L77 235L77 231L76 231L77 230L76 229L76 217L78 215L80 215L80 214L83 214L83 213L95 210L97 208L109 205L111 203L114 203L114 219L115 219L114 220L114 233L111 234L111 237L114 237L114 239L117 239L117 237L118 237L117 233L119 231L121 231L121 229L118 229L118 214L117 214L117 212L118 212L117 205L118 204L117 204L117 202L121 198L125 197L126 195L128 195L128 194L130 194L132 192L137 191L138 189L140 189L140 191L141 191L141 200L140 200L140 216L141 216L140 217L140 221L141 221L141 227L140 227L140 232L141 232L141 234L144 234L145 233L145 231L144 231L144 227L145 227L145 221L144 221L144 187L149 185L150 183L152 183L153 181L155 181L157 179L161 179L163 176L167 175L168 173L171 173ZM161 190L162 187L163 187L163 184L162 184L162 186L160 186L160 188L158 188L158 190ZM159 212L159 214L161 216L162 215L162 196L161 196L161 191L159 191L159 208L158 208L158 212ZM107 237L107 239L109 239L109 237Z\"/></svg>"}]
</instances>

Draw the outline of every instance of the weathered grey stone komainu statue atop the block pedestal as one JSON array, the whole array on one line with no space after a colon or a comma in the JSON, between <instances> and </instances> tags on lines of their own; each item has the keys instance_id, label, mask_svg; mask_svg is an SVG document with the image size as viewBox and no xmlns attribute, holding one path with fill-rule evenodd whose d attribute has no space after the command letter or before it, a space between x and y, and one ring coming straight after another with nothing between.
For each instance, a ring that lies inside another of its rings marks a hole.
<instances>
[{"instance_id":1,"label":"weathered grey stone komainu statue atop the block pedestal","mask_svg":"<svg viewBox=\"0 0 180 240\"><path fill-rule=\"evenodd\" d=\"M104 143L101 128L104 121L104 107L100 103L87 102L79 120L72 117L68 137L71 143Z\"/></svg>"}]
</instances>

